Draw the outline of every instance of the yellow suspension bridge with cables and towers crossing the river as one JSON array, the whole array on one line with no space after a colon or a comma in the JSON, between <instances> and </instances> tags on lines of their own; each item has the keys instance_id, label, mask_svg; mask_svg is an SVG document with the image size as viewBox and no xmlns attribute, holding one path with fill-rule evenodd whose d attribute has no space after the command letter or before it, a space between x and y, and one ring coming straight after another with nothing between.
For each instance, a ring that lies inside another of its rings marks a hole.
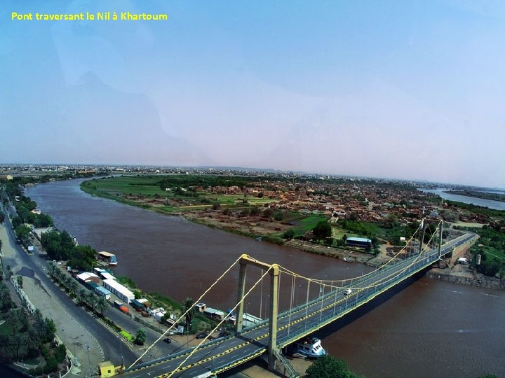
<instances>
[{"instance_id":1,"label":"yellow suspension bridge with cables and towers crossing the river","mask_svg":"<svg viewBox=\"0 0 505 378\"><path fill-rule=\"evenodd\" d=\"M201 343L193 348L137 364L144 356L142 355L132 366L123 371L123 375L127 377L210 377L263 355L268 361L269 368L274 368L278 361L284 365L288 376L297 377L297 373L283 358L281 353L283 347L349 314L377 295L433 265L434 262L450 253L454 247L474 237L473 234L465 234L442 244L443 222L437 222L436 230L425 245L423 240L428 222L423 219L405 247L393 255L391 260L373 272L351 279L333 281L313 279L280 265L269 265L249 255L241 255L196 301L200 302L216 283L238 264L238 298L232 309L236 312L234 335L212 341L202 339ZM262 269L262 274L253 286L247 288L245 277L248 267L251 266ZM288 309L283 311L278 310L278 297L281 295L278 281L281 274L287 276L291 283L290 293L282 293L283 296L289 296L290 302ZM242 320L246 298L256 286L262 284L266 276L269 276L270 281L269 317L260 323L244 328ZM299 288L299 282L304 282L304 288L307 287L303 293L302 303L297 303L295 300L295 288ZM179 321L183 323L185 316L186 313L182 314ZM227 317L215 326L213 332L222 327ZM156 342L163 339L164 335L161 335ZM145 353L148 351L149 349Z\"/></svg>"}]
</instances>

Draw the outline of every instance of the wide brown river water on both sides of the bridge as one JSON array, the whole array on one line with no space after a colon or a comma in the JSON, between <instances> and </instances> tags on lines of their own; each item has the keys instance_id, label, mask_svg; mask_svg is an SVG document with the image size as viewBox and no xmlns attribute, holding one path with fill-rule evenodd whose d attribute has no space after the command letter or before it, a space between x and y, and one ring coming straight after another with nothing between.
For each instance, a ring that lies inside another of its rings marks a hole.
<instances>
[{"instance_id":1,"label":"wide brown river water on both sides of the bridge","mask_svg":"<svg viewBox=\"0 0 505 378\"><path fill-rule=\"evenodd\" d=\"M26 195L79 244L116 253L116 275L145 291L196 300L242 253L304 276L337 280L369 267L232 235L83 193L79 180L36 185ZM212 307L236 302L238 268L205 297ZM260 279L248 269L248 286ZM246 311L267 314L268 279L246 298ZM262 290L261 290L262 288ZM307 297L307 284L281 274L283 309ZM312 284L309 295L320 288ZM505 292L418 276L316 332L332 355L367 377L505 377Z\"/></svg>"}]
</instances>

